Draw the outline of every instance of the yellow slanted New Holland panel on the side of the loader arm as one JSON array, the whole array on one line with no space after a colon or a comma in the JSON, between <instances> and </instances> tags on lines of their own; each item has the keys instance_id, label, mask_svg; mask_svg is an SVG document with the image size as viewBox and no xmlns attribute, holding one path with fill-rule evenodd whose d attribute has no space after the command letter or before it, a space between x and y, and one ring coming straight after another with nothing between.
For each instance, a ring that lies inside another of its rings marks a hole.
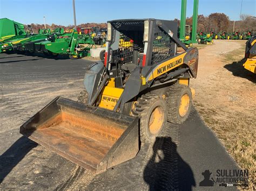
<instances>
[{"instance_id":1,"label":"yellow slanted New Holland panel on the side of the loader arm","mask_svg":"<svg viewBox=\"0 0 256 191\"><path fill-rule=\"evenodd\" d=\"M184 59L185 55L186 55L186 52L158 65L156 68L153 69L153 72L152 72L151 76L149 77L149 79L147 79L147 81L153 80L156 77L163 75L164 73L169 72L170 70L172 70L180 65L183 65L183 63L184 63L183 59Z\"/></svg>"}]
</instances>

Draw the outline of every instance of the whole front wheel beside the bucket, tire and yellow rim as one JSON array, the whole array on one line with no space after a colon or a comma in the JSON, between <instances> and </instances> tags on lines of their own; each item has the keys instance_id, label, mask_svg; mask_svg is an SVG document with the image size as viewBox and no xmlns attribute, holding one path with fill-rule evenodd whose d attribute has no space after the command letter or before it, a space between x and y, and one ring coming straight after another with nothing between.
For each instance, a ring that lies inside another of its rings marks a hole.
<instances>
[{"instance_id":1,"label":"whole front wheel beside the bucket, tire and yellow rim","mask_svg":"<svg viewBox=\"0 0 256 191\"><path fill-rule=\"evenodd\" d=\"M140 118L140 140L148 143L154 142L165 128L167 120L166 101L157 95L142 95L134 104L132 115Z\"/></svg>"}]
</instances>

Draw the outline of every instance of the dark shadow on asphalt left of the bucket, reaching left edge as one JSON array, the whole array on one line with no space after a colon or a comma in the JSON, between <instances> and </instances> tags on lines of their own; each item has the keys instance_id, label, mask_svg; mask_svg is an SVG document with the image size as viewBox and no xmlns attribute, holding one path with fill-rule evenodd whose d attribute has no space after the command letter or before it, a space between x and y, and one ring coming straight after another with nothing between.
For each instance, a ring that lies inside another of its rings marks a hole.
<instances>
[{"instance_id":1,"label":"dark shadow on asphalt left of the bucket, reaching left edge","mask_svg":"<svg viewBox=\"0 0 256 191\"><path fill-rule=\"evenodd\" d=\"M37 144L26 137L19 138L0 156L0 183L11 170L25 157Z\"/></svg>"}]
</instances>

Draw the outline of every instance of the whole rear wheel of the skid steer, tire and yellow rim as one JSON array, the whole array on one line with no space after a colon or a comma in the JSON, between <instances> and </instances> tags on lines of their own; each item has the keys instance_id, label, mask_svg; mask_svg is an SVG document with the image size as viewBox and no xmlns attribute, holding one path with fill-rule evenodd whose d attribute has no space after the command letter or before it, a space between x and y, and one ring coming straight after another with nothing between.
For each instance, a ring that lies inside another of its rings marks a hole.
<instances>
[{"instance_id":1,"label":"whole rear wheel of the skid steer, tire and yellow rim","mask_svg":"<svg viewBox=\"0 0 256 191\"><path fill-rule=\"evenodd\" d=\"M181 124L186 121L192 105L192 93L190 87L183 84L174 84L166 93L168 108L167 121Z\"/></svg>"}]
</instances>

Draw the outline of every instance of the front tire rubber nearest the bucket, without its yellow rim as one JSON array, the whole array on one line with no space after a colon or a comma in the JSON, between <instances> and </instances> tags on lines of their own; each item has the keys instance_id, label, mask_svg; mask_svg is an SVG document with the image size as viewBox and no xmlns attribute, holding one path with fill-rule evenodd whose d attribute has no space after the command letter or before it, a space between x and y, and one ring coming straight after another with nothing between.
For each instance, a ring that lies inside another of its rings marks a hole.
<instances>
[{"instance_id":1,"label":"front tire rubber nearest the bucket, without its yellow rim","mask_svg":"<svg viewBox=\"0 0 256 191\"><path fill-rule=\"evenodd\" d=\"M157 107L163 109L163 122L159 130L153 134L150 132L149 123L152 111ZM142 95L134 104L132 115L140 118L139 132L141 142L152 143L154 140L156 140L156 137L165 129L165 123L167 121L166 101L157 95L152 95L149 93Z\"/></svg>"}]
</instances>

